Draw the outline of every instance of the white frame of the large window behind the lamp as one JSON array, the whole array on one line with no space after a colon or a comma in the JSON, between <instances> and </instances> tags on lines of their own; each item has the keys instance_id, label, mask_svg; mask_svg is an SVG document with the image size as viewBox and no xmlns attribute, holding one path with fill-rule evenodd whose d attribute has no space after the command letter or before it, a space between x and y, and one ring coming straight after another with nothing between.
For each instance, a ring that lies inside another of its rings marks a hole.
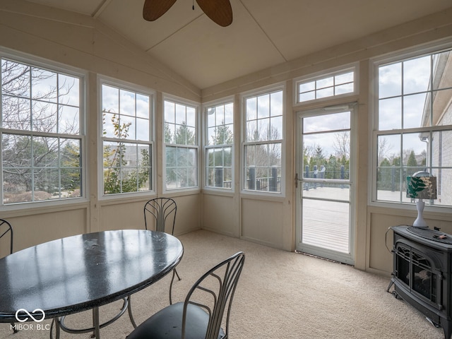
<instances>
[{"instance_id":1,"label":"white frame of the large window behind the lamp","mask_svg":"<svg viewBox=\"0 0 452 339\"><path fill-rule=\"evenodd\" d=\"M427 126L427 127L414 127L414 128L403 128L400 126L398 129L386 129L379 130L379 67L384 65L396 64L398 62L402 63L404 61L410 61L411 59L417 59L421 57L431 56L432 54L439 54L441 52L445 52L450 50L452 52L452 42L432 42L429 44L423 44L421 46L412 47L410 49L406 49L404 51L394 52L385 56L376 57L370 59L370 67L369 67L369 79L371 79L369 83L370 87L370 102L371 105L369 107L369 192L368 194L368 203L369 206L375 207L383 207L383 208L398 208L405 210L413 210L416 209L414 202L406 202L406 201L387 201L387 200L378 200L377 199L377 175L378 168L380 167L378 162L378 138L379 136L400 136L403 138L404 134L410 133L436 133L438 131L452 131L452 125L436 125L436 126ZM403 78L402 78L403 81ZM447 89L442 89L447 90ZM436 90L432 90L429 88L426 93L432 93ZM402 99L405 96L412 95L412 93L401 93L400 96ZM395 96L396 97L396 96ZM429 145L431 149L431 145ZM432 153L430 152L430 160L432 159ZM426 159L427 163L429 159ZM403 168L403 165L400 165ZM448 168L448 166L432 166L429 165L430 168ZM426 165L426 167L429 167ZM420 167L420 165L418 166ZM401 194L405 195L403 192ZM437 204L425 204L425 208L427 210L432 210L435 212L448 212L452 210L452 206L446 205L437 205Z\"/></svg>"}]
</instances>

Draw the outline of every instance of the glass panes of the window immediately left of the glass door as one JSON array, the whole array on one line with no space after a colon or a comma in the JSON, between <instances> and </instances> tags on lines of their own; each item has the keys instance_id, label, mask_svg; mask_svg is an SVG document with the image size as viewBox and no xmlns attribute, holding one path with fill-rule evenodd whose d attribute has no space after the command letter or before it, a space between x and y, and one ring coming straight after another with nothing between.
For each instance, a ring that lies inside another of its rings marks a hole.
<instances>
[{"instance_id":1,"label":"glass panes of the window immediately left of the glass door","mask_svg":"<svg viewBox=\"0 0 452 339\"><path fill-rule=\"evenodd\" d=\"M244 98L244 186L281 192L283 90Z\"/></svg>"}]
</instances>

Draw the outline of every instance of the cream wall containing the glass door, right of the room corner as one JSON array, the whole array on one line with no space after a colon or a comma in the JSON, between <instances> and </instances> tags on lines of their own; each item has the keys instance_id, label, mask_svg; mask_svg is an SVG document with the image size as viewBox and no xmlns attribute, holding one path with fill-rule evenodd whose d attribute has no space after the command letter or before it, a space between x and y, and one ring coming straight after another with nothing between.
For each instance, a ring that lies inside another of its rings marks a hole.
<instances>
[{"instance_id":1,"label":"cream wall containing the glass door, right of the room corner","mask_svg":"<svg viewBox=\"0 0 452 339\"><path fill-rule=\"evenodd\" d=\"M293 105L292 84L293 78L307 76L319 71L335 69L340 66L359 65L359 94L349 97L344 102L358 102L357 128L357 196L356 196L356 234L355 234L355 267L369 270L374 273L389 275L392 270L392 255L386 249L393 241L392 232L386 231L393 225L410 225L417 213L415 209L381 208L371 206L369 203L369 151L371 151L369 138L369 122L371 117L371 88L369 83L372 58L403 51L412 47L430 44L435 41L452 41L452 8L447 11L426 16L419 20L405 23L397 27L376 32L373 35L345 44L333 46L321 52L316 52L299 59L265 69L248 76L237 78L227 83L215 85L202 91L203 102L217 100L220 97L237 95L254 88L261 88L273 83L285 82L287 84L287 115L285 116L285 161L286 180L285 196L283 198L264 198L249 196L240 192L235 186L235 193L227 198L219 196L213 198L215 193L204 191L203 201L210 199L209 208L203 210L203 227L214 229L215 213L226 203L237 214L230 215L229 219L238 223L238 229L225 228L225 233L238 232L240 237L255 242L268 244L281 249L293 250L295 246L295 121L297 107ZM335 102L340 104L340 100ZM239 102L237 102L239 107ZM321 107L311 105L303 109ZM237 112L237 114L240 114ZM237 118L238 124L240 123ZM237 131L237 133L240 133ZM236 154L239 150L236 148ZM236 157L239 162L239 157ZM240 171L236 167L236 171ZM239 173L239 172L237 172ZM452 233L452 213L424 213L424 218L431 227L441 227L444 232Z\"/></svg>"}]
</instances>

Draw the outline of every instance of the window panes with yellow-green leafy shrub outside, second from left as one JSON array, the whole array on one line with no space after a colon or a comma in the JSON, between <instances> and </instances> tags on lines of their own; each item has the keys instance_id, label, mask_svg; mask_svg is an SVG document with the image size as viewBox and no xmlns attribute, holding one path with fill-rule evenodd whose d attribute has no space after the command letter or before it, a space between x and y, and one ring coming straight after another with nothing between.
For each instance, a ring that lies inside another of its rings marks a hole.
<instances>
[{"instance_id":1,"label":"window panes with yellow-green leafy shrub outside, second from left","mask_svg":"<svg viewBox=\"0 0 452 339\"><path fill-rule=\"evenodd\" d=\"M153 190L153 96L102 81L103 193Z\"/></svg>"}]
</instances>

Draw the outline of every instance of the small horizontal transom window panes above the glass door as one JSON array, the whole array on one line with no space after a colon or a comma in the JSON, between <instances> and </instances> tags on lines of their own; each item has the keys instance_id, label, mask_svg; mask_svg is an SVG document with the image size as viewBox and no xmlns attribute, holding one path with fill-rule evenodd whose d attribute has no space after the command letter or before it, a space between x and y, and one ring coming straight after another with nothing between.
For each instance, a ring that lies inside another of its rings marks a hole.
<instances>
[{"instance_id":1,"label":"small horizontal transom window panes above the glass door","mask_svg":"<svg viewBox=\"0 0 452 339\"><path fill-rule=\"evenodd\" d=\"M355 93L355 70L297 81L297 103Z\"/></svg>"}]
</instances>

